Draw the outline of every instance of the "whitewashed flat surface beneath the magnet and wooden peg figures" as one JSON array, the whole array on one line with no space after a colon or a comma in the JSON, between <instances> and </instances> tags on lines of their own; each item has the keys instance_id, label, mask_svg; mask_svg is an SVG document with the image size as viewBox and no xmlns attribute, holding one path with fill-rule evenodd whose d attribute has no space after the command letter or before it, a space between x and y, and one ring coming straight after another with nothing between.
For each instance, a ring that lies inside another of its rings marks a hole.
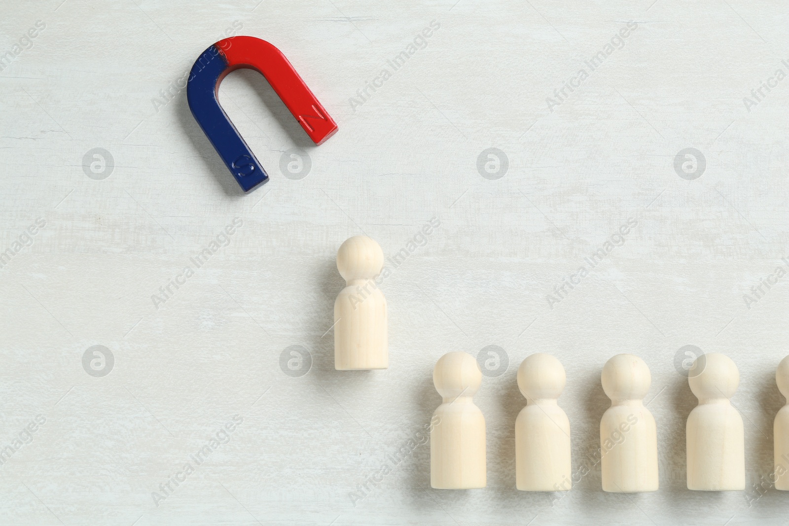
<instances>
[{"instance_id":1,"label":"whitewashed flat surface beneath the magnet and wooden peg figures","mask_svg":"<svg viewBox=\"0 0 789 526\"><path fill-rule=\"evenodd\" d=\"M743 295L789 256L789 80L750 112L742 99L789 73L786 5L256 1L3 4L0 53L46 28L0 72L0 251L46 226L0 270L0 445L46 423L0 466L0 524L783 524L789 493L753 485L772 472L789 277L750 308ZM352 109L434 20L427 47ZM271 174L249 196L184 91L152 103L234 21L278 46L339 125L310 146L260 76L229 76L220 99ZM624 47L550 111L628 21ZM95 147L114 158L101 181L82 167ZM312 160L298 181L279 171L292 147ZM477 171L488 147L509 160L498 180ZM674 169L687 147L706 159L692 181ZM434 217L381 285L390 367L335 371L339 244L367 233L394 256ZM151 295L234 218L229 246L156 309ZM550 308L628 218L626 241ZM113 353L109 375L84 370L92 345ZM311 353L308 374L283 373L290 345ZM427 444L391 467L439 405L439 356L488 345L509 364L474 397L488 487L430 489ZM744 492L686 489L684 345L739 367ZM564 494L515 489L515 374L534 352L567 370L574 471L599 447L603 364L643 357L660 491L605 493L599 464ZM234 415L230 442L155 505Z\"/></svg>"}]
</instances>

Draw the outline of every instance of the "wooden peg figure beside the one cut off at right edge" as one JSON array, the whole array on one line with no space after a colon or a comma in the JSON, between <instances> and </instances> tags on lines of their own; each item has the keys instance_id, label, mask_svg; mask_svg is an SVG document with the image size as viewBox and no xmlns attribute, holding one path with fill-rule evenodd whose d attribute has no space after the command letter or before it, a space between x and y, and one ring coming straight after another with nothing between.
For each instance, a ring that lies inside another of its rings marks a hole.
<instances>
[{"instance_id":1,"label":"wooden peg figure beside the one cut off at right edge","mask_svg":"<svg viewBox=\"0 0 789 526\"><path fill-rule=\"evenodd\" d=\"M688 416L687 482L689 490L745 489L745 438L742 417L729 398L739 386L739 371L731 358L702 354L688 377L698 405Z\"/></svg>"}]
</instances>

